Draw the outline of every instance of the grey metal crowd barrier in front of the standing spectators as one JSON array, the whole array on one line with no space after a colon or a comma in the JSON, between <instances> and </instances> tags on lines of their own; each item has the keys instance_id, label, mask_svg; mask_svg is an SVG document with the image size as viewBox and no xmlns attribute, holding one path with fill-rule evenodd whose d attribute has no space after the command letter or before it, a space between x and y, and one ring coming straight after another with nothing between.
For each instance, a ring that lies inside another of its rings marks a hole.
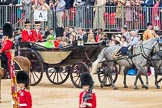
<instances>
[{"instance_id":1,"label":"grey metal crowd barrier in front of the standing spectators","mask_svg":"<svg viewBox=\"0 0 162 108\"><path fill-rule=\"evenodd\" d=\"M156 12L157 10L159 11L161 9L156 9ZM15 28L23 28L26 14L29 13L25 13L24 10L21 10L20 7L17 6L0 6L0 27L2 27L5 22L9 21ZM30 21L32 22L31 24L33 24L33 14L30 14ZM83 29L103 28L108 32L120 31L121 27L124 25L127 25L129 30L145 30L148 22L154 21L154 23L160 23L161 25L162 12L158 12L159 18L154 18L154 14L153 8L150 7L81 6L65 10L62 16L62 24L64 27L73 26L76 28L82 27ZM55 10L48 12L48 21L42 23L42 29L46 26L48 28L57 27ZM155 29L161 29L161 27L155 27Z\"/></svg>"}]
</instances>

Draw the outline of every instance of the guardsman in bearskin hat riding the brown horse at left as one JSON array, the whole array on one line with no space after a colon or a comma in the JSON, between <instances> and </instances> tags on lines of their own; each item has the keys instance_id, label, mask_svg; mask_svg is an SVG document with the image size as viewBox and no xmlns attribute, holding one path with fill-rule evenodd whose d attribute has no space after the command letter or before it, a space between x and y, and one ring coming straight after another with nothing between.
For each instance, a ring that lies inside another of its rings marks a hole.
<instances>
[{"instance_id":1,"label":"guardsman in bearskin hat riding the brown horse at left","mask_svg":"<svg viewBox=\"0 0 162 108\"><path fill-rule=\"evenodd\" d=\"M10 70L10 62L12 56L13 42L12 40L10 40L12 35L13 35L13 29L11 24L5 23L3 25L3 41L2 41L2 47L0 49L0 53L1 53L1 66L3 69L6 69L8 67L8 70Z\"/></svg>"}]
</instances>

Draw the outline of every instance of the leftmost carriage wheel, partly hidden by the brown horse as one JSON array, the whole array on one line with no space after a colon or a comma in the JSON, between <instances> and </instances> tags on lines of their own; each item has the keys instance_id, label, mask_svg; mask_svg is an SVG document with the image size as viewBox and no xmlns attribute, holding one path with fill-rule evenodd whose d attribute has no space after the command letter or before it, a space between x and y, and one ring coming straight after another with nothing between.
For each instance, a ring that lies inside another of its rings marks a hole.
<instances>
[{"instance_id":1,"label":"leftmost carriage wheel, partly hidden by the brown horse","mask_svg":"<svg viewBox=\"0 0 162 108\"><path fill-rule=\"evenodd\" d=\"M27 57L31 62L30 85L39 84L43 77L43 64L35 52L23 51L22 56Z\"/></svg>"}]
</instances>

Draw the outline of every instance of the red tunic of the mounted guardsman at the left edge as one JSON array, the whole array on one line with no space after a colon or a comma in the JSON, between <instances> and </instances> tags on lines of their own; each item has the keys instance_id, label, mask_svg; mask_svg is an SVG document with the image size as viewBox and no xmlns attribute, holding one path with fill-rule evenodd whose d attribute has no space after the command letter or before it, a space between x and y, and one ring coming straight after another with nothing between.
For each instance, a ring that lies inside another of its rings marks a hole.
<instances>
[{"instance_id":1,"label":"red tunic of the mounted guardsman at the left edge","mask_svg":"<svg viewBox=\"0 0 162 108\"><path fill-rule=\"evenodd\" d=\"M10 39L4 40L2 42L2 48L0 50L1 53L5 53L8 58L8 68L10 68L10 61L11 61L11 50L12 50L12 41ZM10 69L9 69L10 70Z\"/></svg>"}]
</instances>

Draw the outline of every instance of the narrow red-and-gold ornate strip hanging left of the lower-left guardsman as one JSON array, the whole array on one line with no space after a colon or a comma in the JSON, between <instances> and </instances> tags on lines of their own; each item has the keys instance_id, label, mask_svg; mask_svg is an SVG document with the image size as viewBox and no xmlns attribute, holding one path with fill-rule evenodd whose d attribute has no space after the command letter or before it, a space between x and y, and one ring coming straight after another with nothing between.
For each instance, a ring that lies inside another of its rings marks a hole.
<instances>
[{"instance_id":1,"label":"narrow red-and-gold ornate strip hanging left of the lower-left guardsman","mask_svg":"<svg viewBox=\"0 0 162 108\"><path fill-rule=\"evenodd\" d=\"M15 75L13 57L11 58L10 76L11 76L11 95L12 95L12 101L13 101L13 108L18 108L17 81L16 81L16 75Z\"/></svg>"}]
</instances>

